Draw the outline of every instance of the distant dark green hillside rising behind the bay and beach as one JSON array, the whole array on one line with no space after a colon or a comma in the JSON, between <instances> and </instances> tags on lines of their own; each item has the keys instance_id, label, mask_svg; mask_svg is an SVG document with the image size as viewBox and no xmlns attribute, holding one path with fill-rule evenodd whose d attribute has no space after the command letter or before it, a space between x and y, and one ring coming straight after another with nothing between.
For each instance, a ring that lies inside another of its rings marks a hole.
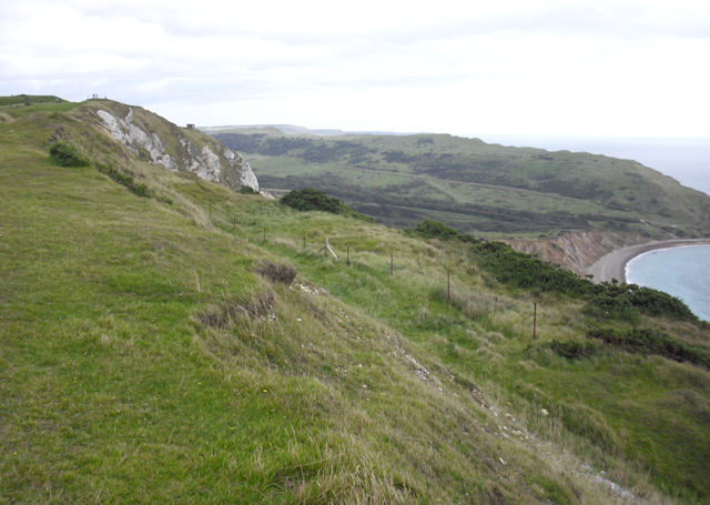
<instances>
[{"instance_id":1,"label":"distant dark green hillside rising behind the bay and beach","mask_svg":"<svg viewBox=\"0 0 710 505\"><path fill-rule=\"evenodd\" d=\"M507 236L710 233L710 198L629 160L440 134L324 139L268 129L215 137L247 154L264 188L313 186L396 226L428 218Z\"/></svg>"}]
</instances>

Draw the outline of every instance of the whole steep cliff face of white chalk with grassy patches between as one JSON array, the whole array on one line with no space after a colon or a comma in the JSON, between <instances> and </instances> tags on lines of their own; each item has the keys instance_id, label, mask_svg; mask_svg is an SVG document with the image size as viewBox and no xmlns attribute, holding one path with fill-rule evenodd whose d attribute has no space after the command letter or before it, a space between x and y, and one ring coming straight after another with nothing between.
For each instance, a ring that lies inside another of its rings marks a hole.
<instances>
[{"instance_id":1,"label":"whole steep cliff face of white chalk with grassy patches between","mask_svg":"<svg viewBox=\"0 0 710 505\"><path fill-rule=\"evenodd\" d=\"M242 154L196 130L183 130L136 108L113 104L95 111L100 125L134 155L165 169L192 172L201 179L239 190L258 191L258 181Z\"/></svg>"}]
</instances>

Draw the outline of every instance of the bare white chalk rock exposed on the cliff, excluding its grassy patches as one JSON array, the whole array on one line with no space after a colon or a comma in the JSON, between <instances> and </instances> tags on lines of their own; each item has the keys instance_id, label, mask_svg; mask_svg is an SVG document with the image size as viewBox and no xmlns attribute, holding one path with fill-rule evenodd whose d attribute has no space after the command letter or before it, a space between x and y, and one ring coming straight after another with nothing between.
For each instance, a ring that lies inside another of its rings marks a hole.
<instances>
[{"instance_id":1,"label":"bare white chalk rock exposed on the cliff, excluding its grassy patches","mask_svg":"<svg viewBox=\"0 0 710 505\"><path fill-rule=\"evenodd\" d=\"M256 175L244 158L216 141L215 145L205 143L199 148L192 140L182 135L178 127L170 124L182 148L180 152L173 152L171 155L165 141L158 133L149 133L136 124L133 109L129 108L125 118L105 110L98 110L97 114L111 137L135 155L144 152L152 163L169 170L186 170L205 181L217 182L227 188L240 189L246 185L258 191ZM215 150L221 150L221 155Z\"/></svg>"}]
</instances>

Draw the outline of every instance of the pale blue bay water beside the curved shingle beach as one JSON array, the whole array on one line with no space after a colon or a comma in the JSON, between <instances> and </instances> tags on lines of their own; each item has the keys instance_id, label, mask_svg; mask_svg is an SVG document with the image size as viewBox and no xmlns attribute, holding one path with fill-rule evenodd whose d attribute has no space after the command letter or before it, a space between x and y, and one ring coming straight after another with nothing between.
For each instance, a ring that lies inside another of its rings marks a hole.
<instances>
[{"instance_id":1,"label":"pale blue bay water beside the curved shingle beach","mask_svg":"<svg viewBox=\"0 0 710 505\"><path fill-rule=\"evenodd\" d=\"M678 296L701 320L710 321L710 245L658 249L626 266L626 281Z\"/></svg>"}]
</instances>

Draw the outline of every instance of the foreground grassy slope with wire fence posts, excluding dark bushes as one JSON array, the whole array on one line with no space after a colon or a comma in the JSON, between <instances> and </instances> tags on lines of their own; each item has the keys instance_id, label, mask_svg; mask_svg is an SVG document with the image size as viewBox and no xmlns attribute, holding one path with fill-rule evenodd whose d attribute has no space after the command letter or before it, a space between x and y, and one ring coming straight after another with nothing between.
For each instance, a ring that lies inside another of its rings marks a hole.
<instances>
[{"instance_id":1,"label":"foreground grassy slope with wire fence posts, excluding dark bushes","mask_svg":"<svg viewBox=\"0 0 710 505\"><path fill-rule=\"evenodd\" d=\"M707 325L170 172L87 107L0 108L1 502L710 498Z\"/></svg>"}]
</instances>

